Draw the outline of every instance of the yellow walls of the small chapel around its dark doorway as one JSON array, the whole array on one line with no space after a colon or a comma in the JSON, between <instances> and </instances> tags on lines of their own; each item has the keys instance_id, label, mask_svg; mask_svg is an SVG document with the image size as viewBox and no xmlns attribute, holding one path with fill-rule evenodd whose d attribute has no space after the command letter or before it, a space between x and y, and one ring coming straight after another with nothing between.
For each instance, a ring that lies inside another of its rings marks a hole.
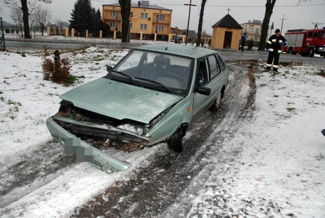
<instances>
[{"instance_id":1,"label":"yellow walls of the small chapel around its dark doorway","mask_svg":"<svg viewBox=\"0 0 325 218\"><path fill-rule=\"evenodd\" d=\"M231 49L238 50L239 48L239 40L241 37L241 29L236 28L229 28L229 27L213 27L212 32L212 41L211 41L211 48L215 49L222 49L224 43L224 33L225 32L232 32L232 42L231 42Z\"/></svg>"}]
</instances>

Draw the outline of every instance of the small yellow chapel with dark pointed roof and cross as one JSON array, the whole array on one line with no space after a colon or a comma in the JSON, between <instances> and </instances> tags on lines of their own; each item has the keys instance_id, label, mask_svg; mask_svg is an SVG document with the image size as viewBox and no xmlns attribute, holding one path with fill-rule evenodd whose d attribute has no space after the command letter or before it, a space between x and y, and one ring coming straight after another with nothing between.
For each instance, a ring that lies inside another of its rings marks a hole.
<instances>
[{"instance_id":1,"label":"small yellow chapel with dark pointed roof and cross","mask_svg":"<svg viewBox=\"0 0 325 218\"><path fill-rule=\"evenodd\" d=\"M212 28L211 48L239 48L243 27L231 15L225 15Z\"/></svg>"}]
</instances>

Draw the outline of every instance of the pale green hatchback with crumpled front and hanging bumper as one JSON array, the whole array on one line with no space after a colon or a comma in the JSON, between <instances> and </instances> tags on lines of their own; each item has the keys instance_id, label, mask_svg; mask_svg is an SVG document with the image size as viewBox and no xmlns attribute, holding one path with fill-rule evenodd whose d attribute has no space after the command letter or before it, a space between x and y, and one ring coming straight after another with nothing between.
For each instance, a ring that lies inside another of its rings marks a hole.
<instances>
[{"instance_id":1,"label":"pale green hatchback with crumpled front and hanging bumper","mask_svg":"<svg viewBox=\"0 0 325 218\"><path fill-rule=\"evenodd\" d=\"M107 71L59 96L59 110L46 122L65 151L72 147L78 157L78 149L88 150L89 162L105 171L130 166L102 151L112 145L166 142L181 152L188 126L206 110L218 110L229 81L217 51L173 43L136 47ZM102 143L94 147L88 138Z\"/></svg>"}]
</instances>

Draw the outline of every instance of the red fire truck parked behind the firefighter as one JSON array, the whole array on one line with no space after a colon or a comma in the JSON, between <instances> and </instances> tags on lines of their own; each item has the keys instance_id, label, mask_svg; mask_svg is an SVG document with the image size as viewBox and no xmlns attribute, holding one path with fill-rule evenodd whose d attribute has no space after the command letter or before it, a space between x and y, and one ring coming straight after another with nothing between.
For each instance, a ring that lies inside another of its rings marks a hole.
<instances>
[{"instance_id":1,"label":"red fire truck parked behind the firefighter","mask_svg":"<svg viewBox=\"0 0 325 218\"><path fill-rule=\"evenodd\" d=\"M284 35L286 46L283 51L289 54L313 57L319 54L325 57L325 27L322 29L292 29Z\"/></svg>"}]
</instances>

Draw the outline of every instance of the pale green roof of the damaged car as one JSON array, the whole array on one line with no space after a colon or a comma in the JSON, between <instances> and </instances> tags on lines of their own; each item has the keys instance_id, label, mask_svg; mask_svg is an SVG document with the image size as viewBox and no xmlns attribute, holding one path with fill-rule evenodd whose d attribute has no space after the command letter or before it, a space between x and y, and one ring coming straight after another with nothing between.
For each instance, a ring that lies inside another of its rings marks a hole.
<instances>
[{"instance_id":1,"label":"pale green roof of the damaged car","mask_svg":"<svg viewBox=\"0 0 325 218\"><path fill-rule=\"evenodd\" d=\"M215 50L211 50L207 48L201 48L192 45L182 45L176 43L155 43L155 44L139 46L135 49L150 50L150 51L163 52L168 54L176 54L176 55L182 55L182 56L192 57L196 59L205 57L207 55L218 53Z\"/></svg>"}]
</instances>

